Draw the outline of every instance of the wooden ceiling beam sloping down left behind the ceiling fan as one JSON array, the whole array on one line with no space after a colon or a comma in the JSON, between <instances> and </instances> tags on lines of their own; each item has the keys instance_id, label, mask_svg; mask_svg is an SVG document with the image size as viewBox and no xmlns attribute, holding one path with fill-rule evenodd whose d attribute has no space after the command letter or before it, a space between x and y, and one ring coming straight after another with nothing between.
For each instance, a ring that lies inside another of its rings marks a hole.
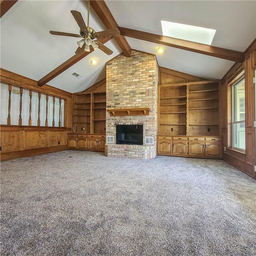
<instances>
[{"instance_id":1,"label":"wooden ceiling beam sloping down left behind the ceiling fan","mask_svg":"<svg viewBox=\"0 0 256 256\"><path fill-rule=\"evenodd\" d=\"M111 38L109 38L109 37L108 38L105 37L105 38L99 38L98 41L100 41L102 44L105 44L110 39ZM91 52L93 52L92 47L91 47L90 52L82 51L81 53L78 53L78 54L72 56L70 59L68 59L67 61L62 63L60 66L58 66L54 70L52 70L49 74L47 74L46 76L41 78L37 82L37 86L43 86L44 84L48 83L50 80L52 80L53 78L55 78L56 76L58 76L59 74L61 74L62 72L64 72L65 70L67 70L68 68L73 66L74 64L76 64L76 62L78 62L79 60L82 60L84 57L88 56Z\"/></svg>"}]
</instances>

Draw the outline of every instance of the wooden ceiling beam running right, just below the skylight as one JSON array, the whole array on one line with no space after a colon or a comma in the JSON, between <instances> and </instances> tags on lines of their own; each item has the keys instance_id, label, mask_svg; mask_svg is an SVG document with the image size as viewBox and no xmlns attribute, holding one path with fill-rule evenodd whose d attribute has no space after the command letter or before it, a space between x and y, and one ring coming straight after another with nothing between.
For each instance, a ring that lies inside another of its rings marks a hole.
<instances>
[{"instance_id":1,"label":"wooden ceiling beam running right, just below the skylight","mask_svg":"<svg viewBox=\"0 0 256 256\"><path fill-rule=\"evenodd\" d=\"M156 44L162 44L162 45L171 46L174 48L179 48L182 50L188 50L190 52L196 52L196 53L205 54L205 55L209 55L216 58L222 58L224 60L231 60L231 61L240 62L240 63L244 61L243 52L237 52L234 50L228 50L220 47L210 46L207 44L190 42L190 41L172 38L168 36L150 34L147 32L133 30L130 28L119 27L118 29L120 30L120 33L122 36L129 36L132 38L153 42Z\"/></svg>"}]
</instances>

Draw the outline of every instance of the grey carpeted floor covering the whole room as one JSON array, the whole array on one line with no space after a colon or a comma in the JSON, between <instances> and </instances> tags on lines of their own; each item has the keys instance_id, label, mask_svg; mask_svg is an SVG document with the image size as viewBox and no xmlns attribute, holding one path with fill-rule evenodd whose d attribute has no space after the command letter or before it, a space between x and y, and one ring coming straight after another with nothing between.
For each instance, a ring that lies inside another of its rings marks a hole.
<instances>
[{"instance_id":1,"label":"grey carpeted floor covering the whole room","mask_svg":"<svg viewBox=\"0 0 256 256\"><path fill-rule=\"evenodd\" d=\"M63 151L1 163L1 255L256 255L256 181L222 160Z\"/></svg>"}]
</instances>

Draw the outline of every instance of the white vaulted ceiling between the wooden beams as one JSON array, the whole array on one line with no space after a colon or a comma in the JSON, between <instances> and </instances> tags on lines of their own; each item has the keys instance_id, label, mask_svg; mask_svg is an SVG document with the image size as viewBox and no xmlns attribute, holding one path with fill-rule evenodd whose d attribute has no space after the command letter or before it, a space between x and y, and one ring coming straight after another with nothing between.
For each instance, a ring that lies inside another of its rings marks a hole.
<instances>
[{"instance_id":1,"label":"white vaulted ceiling between the wooden beams","mask_svg":"<svg viewBox=\"0 0 256 256\"><path fill-rule=\"evenodd\" d=\"M106 0L120 27L162 34L161 20L216 29L212 45L244 51L256 38L256 1L137 1ZM77 34L79 27L70 10L82 13L87 23L86 1L19 0L0 19L0 66L17 74L40 80L74 55L78 38L54 36L50 30ZM90 26L104 30L102 22L90 8ZM156 54L160 66L201 76L220 79L234 64L202 54L168 46L157 53L158 44L126 38L132 49ZM68 92L82 91L103 79L105 63L120 54L114 40L105 44L113 50L108 56L92 52L47 84ZM94 66L92 58L98 59ZM82 75L81 79L71 76Z\"/></svg>"}]
</instances>

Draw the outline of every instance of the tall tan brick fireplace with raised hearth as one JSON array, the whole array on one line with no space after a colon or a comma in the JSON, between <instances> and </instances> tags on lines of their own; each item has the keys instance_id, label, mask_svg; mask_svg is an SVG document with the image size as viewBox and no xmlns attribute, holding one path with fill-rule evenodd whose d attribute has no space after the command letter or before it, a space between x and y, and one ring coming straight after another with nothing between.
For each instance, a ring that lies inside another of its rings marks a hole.
<instances>
[{"instance_id":1,"label":"tall tan brick fireplace with raised hearth","mask_svg":"<svg viewBox=\"0 0 256 256\"><path fill-rule=\"evenodd\" d=\"M158 63L155 55L132 51L120 54L106 64L106 109L149 108L149 115L110 116L106 112L105 155L119 158L149 159L156 156ZM131 111L132 112L132 111ZM116 144L117 124L143 124L143 145ZM145 137L153 137L146 144Z\"/></svg>"}]
</instances>

